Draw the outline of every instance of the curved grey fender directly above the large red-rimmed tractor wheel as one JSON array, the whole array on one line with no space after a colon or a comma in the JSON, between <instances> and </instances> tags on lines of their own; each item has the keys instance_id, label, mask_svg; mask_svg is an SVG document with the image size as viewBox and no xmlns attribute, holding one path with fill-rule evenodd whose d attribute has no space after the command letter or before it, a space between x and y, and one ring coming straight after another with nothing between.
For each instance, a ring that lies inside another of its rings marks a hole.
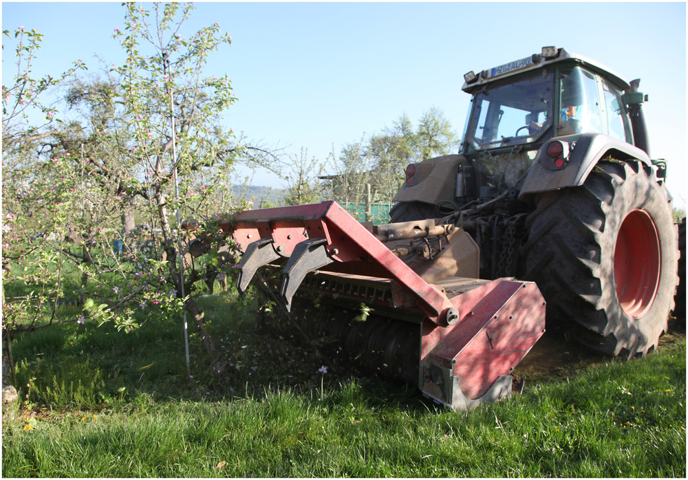
<instances>
[{"instance_id":1,"label":"curved grey fender directly above the large red-rimmed tractor wheel","mask_svg":"<svg viewBox=\"0 0 688 480\"><path fill-rule=\"evenodd\" d=\"M597 162L607 156L613 157L614 160L640 160L652 166L647 153L638 149L637 146L601 133L583 133L575 142L571 137L552 138L552 140L563 142L568 140L572 147L566 166L561 169L544 166L545 162L551 162L547 156L547 146L550 142L545 142L533 160L533 166L519 193L519 200L528 201L533 193L581 186Z\"/></svg>"}]
</instances>

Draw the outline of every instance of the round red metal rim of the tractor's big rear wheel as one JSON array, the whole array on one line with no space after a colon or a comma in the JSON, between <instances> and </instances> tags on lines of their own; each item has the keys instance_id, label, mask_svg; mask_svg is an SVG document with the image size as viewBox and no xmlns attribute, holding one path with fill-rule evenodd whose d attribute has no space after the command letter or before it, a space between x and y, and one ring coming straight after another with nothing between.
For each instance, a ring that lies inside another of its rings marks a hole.
<instances>
[{"instance_id":1,"label":"round red metal rim of the tractor's big rear wheel","mask_svg":"<svg viewBox=\"0 0 688 480\"><path fill-rule=\"evenodd\" d=\"M614 248L614 284L623 312L641 318L652 307L660 276L657 228L645 210L632 210Z\"/></svg>"}]
</instances>

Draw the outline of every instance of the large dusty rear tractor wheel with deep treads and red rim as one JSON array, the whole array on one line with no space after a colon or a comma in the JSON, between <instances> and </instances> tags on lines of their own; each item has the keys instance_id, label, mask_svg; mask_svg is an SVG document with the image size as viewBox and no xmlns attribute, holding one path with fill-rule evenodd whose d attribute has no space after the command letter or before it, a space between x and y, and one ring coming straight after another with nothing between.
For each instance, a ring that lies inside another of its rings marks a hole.
<instances>
[{"instance_id":1,"label":"large dusty rear tractor wheel with deep treads and red rim","mask_svg":"<svg viewBox=\"0 0 688 480\"><path fill-rule=\"evenodd\" d=\"M548 325L590 347L645 355L667 329L678 284L665 188L641 162L600 162L583 186L544 193L526 221L525 278Z\"/></svg>"}]
</instances>

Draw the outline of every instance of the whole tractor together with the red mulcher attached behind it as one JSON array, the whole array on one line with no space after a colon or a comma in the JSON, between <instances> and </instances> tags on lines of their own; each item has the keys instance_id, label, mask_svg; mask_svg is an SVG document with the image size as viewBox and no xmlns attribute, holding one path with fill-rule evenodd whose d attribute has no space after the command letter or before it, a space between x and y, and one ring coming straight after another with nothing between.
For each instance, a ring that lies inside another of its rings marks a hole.
<instances>
[{"instance_id":1,"label":"whole tractor together with the red mulcher attached behind it","mask_svg":"<svg viewBox=\"0 0 688 480\"><path fill-rule=\"evenodd\" d=\"M243 254L239 292L282 269L283 307L327 308L309 328L456 410L509 395L548 328L644 356L679 258L640 80L557 47L464 80L460 152L409 165L387 225L325 201L220 227Z\"/></svg>"}]
</instances>

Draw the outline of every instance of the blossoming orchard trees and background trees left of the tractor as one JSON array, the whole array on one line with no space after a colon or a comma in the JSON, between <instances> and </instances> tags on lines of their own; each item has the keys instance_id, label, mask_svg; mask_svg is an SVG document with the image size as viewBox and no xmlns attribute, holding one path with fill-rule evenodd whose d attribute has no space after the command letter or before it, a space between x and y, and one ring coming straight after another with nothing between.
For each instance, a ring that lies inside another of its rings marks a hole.
<instances>
[{"instance_id":1,"label":"blossoming orchard trees and background trees left of the tractor","mask_svg":"<svg viewBox=\"0 0 688 480\"><path fill-rule=\"evenodd\" d=\"M193 6L181 3L122 8L113 37L125 62L94 72L78 59L33 78L43 36L3 30L3 48L14 45L13 82L2 87L3 337L65 321L130 331L153 309L186 312L222 371L195 296L233 271L212 219L252 207L237 198L235 167L280 175L287 205L361 203L368 188L388 202L407 164L450 153L457 135L433 107L415 126L403 114L325 159L288 155L222 125L237 99L227 75L206 75L208 58L231 44L217 23L187 32ZM82 313L58 318L70 295Z\"/></svg>"}]
</instances>

